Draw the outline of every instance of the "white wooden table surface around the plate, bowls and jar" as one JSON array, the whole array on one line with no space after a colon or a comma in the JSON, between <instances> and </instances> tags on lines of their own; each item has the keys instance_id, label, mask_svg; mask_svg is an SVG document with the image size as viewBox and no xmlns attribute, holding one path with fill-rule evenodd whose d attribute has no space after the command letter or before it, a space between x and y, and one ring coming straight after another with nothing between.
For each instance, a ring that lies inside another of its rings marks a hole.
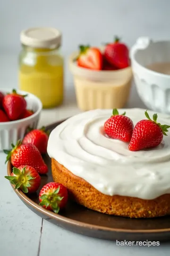
<instances>
[{"instance_id":1,"label":"white wooden table surface around the plate, bowls and jar","mask_svg":"<svg viewBox=\"0 0 170 256\"><path fill-rule=\"evenodd\" d=\"M11 76L7 56L1 56L0 87L16 88L17 66L11 58ZM15 70L15 68L16 70ZM67 83L68 85L68 83ZM135 88L127 107L144 107L139 100ZM66 87L66 100L62 107L43 110L39 126L48 125L60 119L75 115L80 111L76 107L76 99L72 84ZM12 190L4 178L7 174L4 165L6 155L0 153L0 256L169 256L170 244L159 247L116 246L115 242L88 238L61 229L37 216L29 210Z\"/></svg>"}]
</instances>

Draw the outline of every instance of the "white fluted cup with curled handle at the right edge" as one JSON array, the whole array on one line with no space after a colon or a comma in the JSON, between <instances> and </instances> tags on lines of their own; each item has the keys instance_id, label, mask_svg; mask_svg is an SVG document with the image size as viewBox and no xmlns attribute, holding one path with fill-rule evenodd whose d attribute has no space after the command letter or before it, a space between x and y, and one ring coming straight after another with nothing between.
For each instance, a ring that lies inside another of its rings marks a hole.
<instances>
[{"instance_id":1,"label":"white fluted cup with curled handle at the right edge","mask_svg":"<svg viewBox=\"0 0 170 256\"><path fill-rule=\"evenodd\" d=\"M130 51L132 72L139 97L147 108L170 114L170 75L158 73L146 66L170 63L170 41L153 41L140 37Z\"/></svg>"}]
</instances>

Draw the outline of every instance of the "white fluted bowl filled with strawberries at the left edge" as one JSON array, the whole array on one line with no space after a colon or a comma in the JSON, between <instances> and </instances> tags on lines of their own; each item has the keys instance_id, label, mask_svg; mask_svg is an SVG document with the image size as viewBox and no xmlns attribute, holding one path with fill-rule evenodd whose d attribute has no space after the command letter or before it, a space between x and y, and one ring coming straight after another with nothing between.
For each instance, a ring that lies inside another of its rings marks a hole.
<instances>
[{"instance_id":1,"label":"white fluted bowl filled with strawberries at the left edge","mask_svg":"<svg viewBox=\"0 0 170 256\"><path fill-rule=\"evenodd\" d=\"M0 90L0 150L16 144L28 127L36 128L41 110L42 102L31 93Z\"/></svg>"}]
</instances>

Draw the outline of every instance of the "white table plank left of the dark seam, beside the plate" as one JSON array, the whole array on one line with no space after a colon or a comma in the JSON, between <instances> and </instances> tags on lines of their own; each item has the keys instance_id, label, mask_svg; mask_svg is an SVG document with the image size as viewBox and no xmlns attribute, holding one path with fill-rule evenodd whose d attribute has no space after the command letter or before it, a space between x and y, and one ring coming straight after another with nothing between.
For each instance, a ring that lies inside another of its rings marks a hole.
<instances>
[{"instance_id":1,"label":"white table plank left of the dark seam, beside the plate","mask_svg":"<svg viewBox=\"0 0 170 256\"><path fill-rule=\"evenodd\" d=\"M0 255L37 256L42 219L17 197L0 153Z\"/></svg>"}]
</instances>

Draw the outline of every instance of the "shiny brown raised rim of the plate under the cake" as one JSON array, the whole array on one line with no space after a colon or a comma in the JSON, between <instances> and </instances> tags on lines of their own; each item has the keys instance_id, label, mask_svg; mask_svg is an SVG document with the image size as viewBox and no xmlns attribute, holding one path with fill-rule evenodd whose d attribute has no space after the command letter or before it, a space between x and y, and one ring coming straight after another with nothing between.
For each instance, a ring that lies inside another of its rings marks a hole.
<instances>
[{"instance_id":1,"label":"shiny brown raised rim of the plate under the cake","mask_svg":"<svg viewBox=\"0 0 170 256\"><path fill-rule=\"evenodd\" d=\"M64 122L66 119L57 121L57 122L53 122L48 126L45 126L45 129L48 130L50 128L53 128L53 126L58 126L60 123ZM10 176L12 173L12 164L10 161L8 161L7 164L7 174L8 176ZM11 184L11 183L10 183ZM102 231L110 231L110 232L121 232L121 233L131 233L131 234L135 234L135 233L165 233L165 232L170 232L170 228L167 229L119 229L119 228L109 228L109 227L104 227L104 226L98 226L95 224L89 224L86 222L82 222L82 221L78 221L75 219L70 219L68 217L64 217L62 215L56 214L50 210L46 210L45 208L43 208L42 206L40 206L39 204L35 203L33 200L31 200L24 192L20 191L20 190L15 190L14 185L12 185L12 188L14 190L14 192L16 192L17 196L22 199L22 201L24 201L26 204L28 204L29 206L33 207L34 209L38 210L40 213L46 215L49 218L55 219L57 221L60 222L64 222L64 223L68 223L71 224L73 226L76 227L83 227L86 229L94 229L94 230L102 230ZM104 214L104 213L103 213ZM120 217L121 218L121 217ZM153 219L153 218L152 218Z\"/></svg>"}]
</instances>

